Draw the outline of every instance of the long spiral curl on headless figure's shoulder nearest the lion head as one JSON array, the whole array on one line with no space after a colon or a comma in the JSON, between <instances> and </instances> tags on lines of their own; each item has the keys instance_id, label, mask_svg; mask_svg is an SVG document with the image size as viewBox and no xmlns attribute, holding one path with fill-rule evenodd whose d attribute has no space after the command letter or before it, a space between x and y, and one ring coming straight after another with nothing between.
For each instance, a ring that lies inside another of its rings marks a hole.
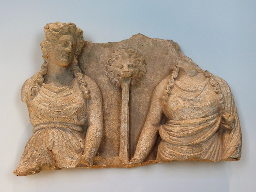
<instances>
[{"instance_id":1,"label":"long spiral curl on headless figure's shoulder nearest the lion head","mask_svg":"<svg viewBox=\"0 0 256 192\"><path fill-rule=\"evenodd\" d=\"M165 106L168 98L170 97L171 90L175 84L175 78L177 78L179 70L180 70L180 68L179 68L178 64L175 65L172 70L172 74L171 74L170 78L168 79L168 85L166 86L166 90L164 91L163 96L162 96L163 106Z\"/></svg>"}]
</instances>

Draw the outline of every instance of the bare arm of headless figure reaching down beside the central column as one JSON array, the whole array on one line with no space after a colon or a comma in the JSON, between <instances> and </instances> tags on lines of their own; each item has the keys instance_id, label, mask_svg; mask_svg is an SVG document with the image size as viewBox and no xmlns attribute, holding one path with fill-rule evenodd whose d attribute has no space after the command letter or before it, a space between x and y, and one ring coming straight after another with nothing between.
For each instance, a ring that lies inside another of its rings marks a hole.
<instances>
[{"instance_id":1,"label":"bare arm of headless figure reaching down beside the central column","mask_svg":"<svg viewBox=\"0 0 256 192\"><path fill-rule=\"evenodd\" d=\"M166 79L162 80L162 82L156 86L152 94L146 122L142 128L136 151L134 157L130 161L130 164L142 163L156 142L158 129L160 127L163 115L162 91L166 83Z\"/></svg>"}]
</instances>

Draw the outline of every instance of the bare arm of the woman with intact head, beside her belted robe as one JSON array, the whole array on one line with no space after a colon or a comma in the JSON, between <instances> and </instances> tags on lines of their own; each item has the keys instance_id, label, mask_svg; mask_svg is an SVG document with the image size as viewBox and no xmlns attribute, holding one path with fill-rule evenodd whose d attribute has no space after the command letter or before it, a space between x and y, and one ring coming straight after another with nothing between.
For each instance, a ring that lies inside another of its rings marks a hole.
<instances>
[{"instance_id":1,"label":"bare arm of the woman with intact head, beside her belted robe","mask_svg":"<svg viewBox=\"0 0 256 192\"><path fill-rule=\"evenodd\" d=\"M92 166L103 136L102 96L98 85L92 79L85 77L85 80L90 90L90 99L88 101L88 128L82 161L88 166Z\"/></svg>"}]
</instances>

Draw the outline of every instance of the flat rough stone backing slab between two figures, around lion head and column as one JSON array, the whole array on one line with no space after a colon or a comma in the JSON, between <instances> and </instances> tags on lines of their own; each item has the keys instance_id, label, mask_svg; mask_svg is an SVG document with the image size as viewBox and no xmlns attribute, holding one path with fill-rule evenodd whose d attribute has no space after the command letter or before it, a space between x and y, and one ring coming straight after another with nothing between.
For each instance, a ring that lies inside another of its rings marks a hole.
<instances>
[{"instance_id":1,"label":"flat rough stone backing slab between two figures, around lion head and column","mask_svg":"<svg viewBox=\"0 0 256 192\"><path fill-rule=\"evenodd\" d=\"M145 77L141 83L130 87L130 157L146 120L150 98L156 85L164 79L178 62L179 46L172 40L148 38L136 34L121 42L94 44L86 42L79 58L84 73L90 76L100 87L104 110L104 139L99 153L104 158L115 158L119 154L120 114L122 92L106 76L106 61L112 57L114 50L125 48L136 49L146 63ZM154 160L156 150L150 154ZM112 159L109 160L109 163ZM116 162L115 162L116 163Z\"/></svg>"}]
</instances>

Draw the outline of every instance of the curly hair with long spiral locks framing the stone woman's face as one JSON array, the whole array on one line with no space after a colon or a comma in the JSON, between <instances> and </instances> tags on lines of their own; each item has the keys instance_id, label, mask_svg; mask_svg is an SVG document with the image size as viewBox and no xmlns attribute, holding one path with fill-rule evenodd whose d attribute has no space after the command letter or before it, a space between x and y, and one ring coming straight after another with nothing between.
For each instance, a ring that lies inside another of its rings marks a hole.
<instances>
[{"instance_id":1,"label":"curly hair with long spiral locks framing the stone woman's face","mask_svg":"<svg viewBox=\"0 0 256 192\"><path fill-rule=\"evenodd\" d=\"M62 35L70 35L76 40L76 50L74 54L74 60L71 66L71 70L74 72L74 77L77 79L80 90L82 91L84 98L90 98L90 91L86 87L86 82L84 80L84 76L81 72L81 69L78 66L77 57L81 52L82 47L84 46L84 38L83 31L76 27L74 23L49 23L44 27L45 37L43 42L41 43L41 49L44 58L44 64L41 67L41 70L38 72L36 76L36 80L34 80L34 84L31 88L30 98L33 99L39 92L42 83L44 82L44 75L47 73L47 65L48 65L48 57L50 52L52 52L54 48L54 44L58 41L58 39Z\"/></svg>"}]
</instances>

